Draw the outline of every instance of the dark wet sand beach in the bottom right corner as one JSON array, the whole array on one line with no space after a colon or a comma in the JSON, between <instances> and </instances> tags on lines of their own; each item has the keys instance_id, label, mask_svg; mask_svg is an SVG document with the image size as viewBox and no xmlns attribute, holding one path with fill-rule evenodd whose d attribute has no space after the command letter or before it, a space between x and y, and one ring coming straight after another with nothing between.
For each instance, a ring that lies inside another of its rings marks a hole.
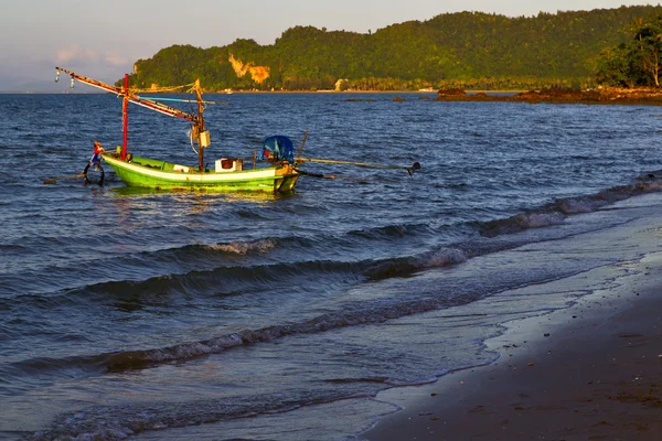
<instances>
[{"instance_id":1,"label":"dark wet sand beach in the bottom right corner","mask_svg":"<svg viewBox=\"0 0 662 441\"><path fill-rule=\"evenodd\" d=\"M619 283L510 323L491 365L381 392L403 410L360 439L662 440L662 256Z\"/></svg>"}]
</instances>

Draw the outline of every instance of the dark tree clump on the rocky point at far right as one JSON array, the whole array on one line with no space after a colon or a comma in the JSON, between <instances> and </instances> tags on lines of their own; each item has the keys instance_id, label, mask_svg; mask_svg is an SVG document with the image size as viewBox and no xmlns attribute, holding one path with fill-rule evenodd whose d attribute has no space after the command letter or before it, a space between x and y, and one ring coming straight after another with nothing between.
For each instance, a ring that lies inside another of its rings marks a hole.
<instances>
[{"instance_id":1,"label":"dark tree clump on the rocky point at far right","mask_svg":"<svg viewBox=\"0 0 662 441\"><path fill-rule=\"evenodd\" d=\"M596 76L610 86L660 87L662 68L662 13L637 19L630 26L631 40L601 52Z\"/></svg>"}]
</instances>

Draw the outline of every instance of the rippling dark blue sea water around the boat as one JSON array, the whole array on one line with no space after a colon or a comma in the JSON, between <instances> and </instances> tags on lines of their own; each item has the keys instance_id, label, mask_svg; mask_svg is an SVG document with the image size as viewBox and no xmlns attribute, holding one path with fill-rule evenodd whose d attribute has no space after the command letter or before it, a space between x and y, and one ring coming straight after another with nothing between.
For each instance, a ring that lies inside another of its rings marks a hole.
<instances>
[{"instance_id":1,"label":"rippling dark blue sea water around the boat","mask_svg":"<svg viewBox=\"0 0 662 441\"><path fill-rule=\"evenodd\" d=\"M121 100L0 95L0 439L352 439L395 410L380 390L585 294L509 289L656 248L595 245L660 204L655 107L207 98L210 164L308 131L305 158L402 168L306 163L285 196L85 184ZM196 164L189 129L130 107L129 151Z\"/></svg>"}]
</instances>

